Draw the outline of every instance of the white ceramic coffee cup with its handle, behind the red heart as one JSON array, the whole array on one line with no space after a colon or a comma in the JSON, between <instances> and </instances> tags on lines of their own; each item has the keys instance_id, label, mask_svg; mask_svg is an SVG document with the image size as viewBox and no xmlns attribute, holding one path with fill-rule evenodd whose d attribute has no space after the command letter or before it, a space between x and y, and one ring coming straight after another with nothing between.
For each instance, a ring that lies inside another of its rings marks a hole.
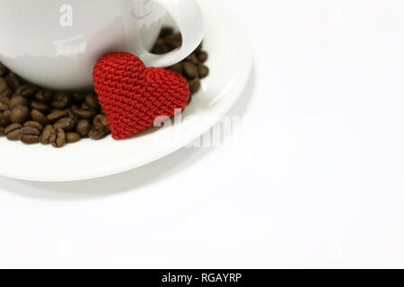
<instances>
[{"instance_id":1,"label":"white ceramic coffee cup with its handle, behind the red heart","mask_svg":"<svg viewBox=\"0 0 404 287\"><path fill-rule=\"evenodd\" d=\"M182 47L148 52L170 13ZM147 66L180 62L203 38L196 0L0 0L0 61L49 89L92 87L92 68L111 52L130 52Z\"/></svg>"}]
</instances>

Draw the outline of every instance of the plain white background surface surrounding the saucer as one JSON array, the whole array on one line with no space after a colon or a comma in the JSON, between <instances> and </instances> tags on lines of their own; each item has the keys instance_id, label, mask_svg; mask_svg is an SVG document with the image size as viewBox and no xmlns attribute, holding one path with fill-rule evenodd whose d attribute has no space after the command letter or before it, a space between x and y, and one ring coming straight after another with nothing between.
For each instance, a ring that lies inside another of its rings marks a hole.
<instances>
[{"instance_id":1,"label":"plain white background surface surrounding the saucer","mask_svg":"<svg viewBox=\"0 0 404 287\"><path fill-rule=\"evenodd\" d=\"M228 2L255 54L233 136L110 178L0 178L0 266L404 266L404 4Z\"/></svg>"}]
</instances>

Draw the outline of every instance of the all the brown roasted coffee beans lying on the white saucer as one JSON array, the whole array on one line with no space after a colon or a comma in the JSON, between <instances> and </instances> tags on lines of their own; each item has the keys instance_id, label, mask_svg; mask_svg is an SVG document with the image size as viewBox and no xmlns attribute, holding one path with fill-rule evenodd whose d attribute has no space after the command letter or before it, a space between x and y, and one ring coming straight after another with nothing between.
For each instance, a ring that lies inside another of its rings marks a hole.
<instances>
[{"instance_id":1,"label":"all the brown roasted coffee beans lying on the white saucer","mask_svg":"<svg viewBox=\"0 0 404 287\"><path fill-rule=\"evenodd\" d=\"M163 28L153 52L164 54L181 46L180 34ZM180 64L167 69L182 74L191 94L209 69L202 44ZM83 138L100 140L110 135L107 117L95 92L48 91L26 83L0 63L0 135L10 141L43 143L62 147Z\"/></svg>"}]
</instances>

